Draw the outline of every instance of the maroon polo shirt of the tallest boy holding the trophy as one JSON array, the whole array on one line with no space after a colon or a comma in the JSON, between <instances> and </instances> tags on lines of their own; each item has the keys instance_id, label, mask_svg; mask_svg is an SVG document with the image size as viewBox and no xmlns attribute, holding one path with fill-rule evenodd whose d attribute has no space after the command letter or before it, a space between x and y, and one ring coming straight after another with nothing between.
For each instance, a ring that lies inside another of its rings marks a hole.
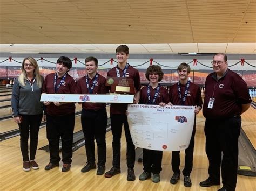
<instances>
[{"instance_id":1,"label":"maroon polo shirt of the tallest boy holding the trophy","mask_svg":"<svg viewBox=\"0 0 256 191\"><path fill-rule=\"evenodd\" d=\"M118 66L112 68L107 72L108 77L117 77L117 71L116 68L119 70L120 76L123 75L124 69L121 70L118 68ZM125 77L129 77L133 79L134 81L134 87L136 91L139 91L141 86L140 86L140 77L139 77L139 71L135 68L133 68L131 65L127 68L127 72ZM127 103L111 103L110 104L110 114L125 114L125 111L127 110Z\"/></svg>"}]
</instances>

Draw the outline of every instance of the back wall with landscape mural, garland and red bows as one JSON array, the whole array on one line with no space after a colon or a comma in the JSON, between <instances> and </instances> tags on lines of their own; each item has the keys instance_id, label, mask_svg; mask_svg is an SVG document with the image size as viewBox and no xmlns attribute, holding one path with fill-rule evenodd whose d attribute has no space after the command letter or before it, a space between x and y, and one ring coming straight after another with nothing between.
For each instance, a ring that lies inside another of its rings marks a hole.
<instances>
[{"instance_id":1,"label":"back wall with landscape mural, garland and red bows","mask_svg":"<svg viewBox=\"0 0 256 191\"><path fill-rule=\"evenodd\" d=\"M72 60L69 74L74 79L86 75L84 60L87 56L98 59L98 73L105 76L107 71L117 65L115 54L0 54L0 79L14 80L21 73L22 61L26 56L37 60L41 75L44 77L55 72L56 61L59 56L68 56ZM256 87L256 59L253 54L227 54L228 68L238 73L247 83L248 87ZM213 72L211 61L213 55L178 54L130 54L128 62L139 70L140 80L146 83L145 72L150 65L159 65L165 75L161 83L176 83L178 81L177 67L181 62L186 62L191 67L190 80L203 86L208 74Z\"/></svg>"}]
</instances>

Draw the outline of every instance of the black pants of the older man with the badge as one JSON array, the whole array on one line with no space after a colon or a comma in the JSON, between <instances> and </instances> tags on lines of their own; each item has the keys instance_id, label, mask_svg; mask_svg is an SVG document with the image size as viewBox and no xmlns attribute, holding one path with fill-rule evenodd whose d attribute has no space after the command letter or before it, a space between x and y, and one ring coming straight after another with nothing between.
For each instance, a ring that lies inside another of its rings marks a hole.
<instances>
[{"instance_id":1,"label":"black pants of the older man with the badge","mask_svg":"<svg viewBox=\"0 0 256 191\"><path fill-rule=\"evenodd\" d=\"M209 160L209 178L220 181L227 190L237 185L238 137L241 117L207 119L205 121L206 154ZM223 156L221 156L223 153ZM222 159L222 160L221 160Z\"/></svg>"}]
</instances>

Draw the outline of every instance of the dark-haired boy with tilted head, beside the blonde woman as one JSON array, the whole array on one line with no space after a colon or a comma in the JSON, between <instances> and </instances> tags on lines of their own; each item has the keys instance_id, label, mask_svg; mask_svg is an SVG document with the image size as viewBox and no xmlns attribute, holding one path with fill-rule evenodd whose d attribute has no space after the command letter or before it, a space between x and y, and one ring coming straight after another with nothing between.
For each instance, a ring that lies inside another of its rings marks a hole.
<instances>
[{"instance_id":1,"label":"dark-haired boy with tilted head, beside the blonde woman","mask_svg":"<svg viewBox=\"0 0 256 191\"><path fill-rule=\"evenodd\" d=\"M76 82L68 74L72 62L65 56L57 60L56 73L48 74L42 92L46 94L74 94ZM72 162L73 131L75 126L75 104L48 102L46 105L46 133L49 141L50 162L45 166L48 171L59 166L59 137L62 139L62 172L69 171Z\"/></svg>"}]
</instances>

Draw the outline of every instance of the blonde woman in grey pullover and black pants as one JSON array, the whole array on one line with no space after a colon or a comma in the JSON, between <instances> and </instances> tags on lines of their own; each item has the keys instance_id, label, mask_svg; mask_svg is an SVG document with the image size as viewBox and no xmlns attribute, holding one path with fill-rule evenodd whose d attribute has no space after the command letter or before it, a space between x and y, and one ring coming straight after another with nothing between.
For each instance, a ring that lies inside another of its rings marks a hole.
<instances>
[{"instance_id":1,"label":"blonde woman in grey pullover and black pants","mask_svg":"<svg viewBox=\"0 0 256 191\"><path fill-rule=\"evenodd\" d=\"M18 123L21 136L24 171L30 171L30 167L39 168L35 157L43 115L43 104L40 102L43 81L36 60L32 57L24 58L21 75L15 80L11 96L12 117Z\"/></svg>"}]
</instances>

